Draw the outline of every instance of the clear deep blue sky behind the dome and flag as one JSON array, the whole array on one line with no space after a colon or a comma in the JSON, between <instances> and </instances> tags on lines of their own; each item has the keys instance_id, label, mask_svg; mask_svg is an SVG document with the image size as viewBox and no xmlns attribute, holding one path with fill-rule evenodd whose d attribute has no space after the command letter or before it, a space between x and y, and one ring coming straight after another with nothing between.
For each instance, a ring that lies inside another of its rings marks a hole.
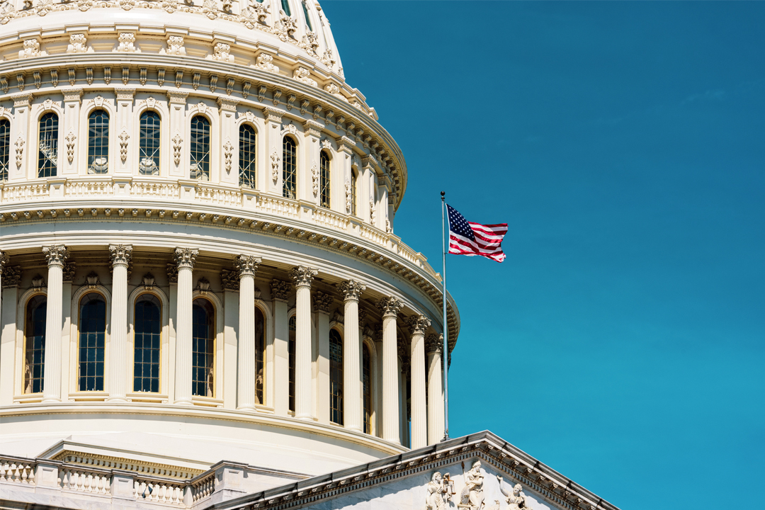
<instances>
[{"instance_id":1,"label":"clear deep blue sky behind the dome and flag","mask_svg":"<svg viewBox=\"0 0 765 510\"><path fill-rule=\"evenodd\" d=\"M624 509L759 499L765 3L321 4L408 163L396 233L440 271L441 190L509 224L448 259L452 437Z\"/></svg>"}]
</instances>

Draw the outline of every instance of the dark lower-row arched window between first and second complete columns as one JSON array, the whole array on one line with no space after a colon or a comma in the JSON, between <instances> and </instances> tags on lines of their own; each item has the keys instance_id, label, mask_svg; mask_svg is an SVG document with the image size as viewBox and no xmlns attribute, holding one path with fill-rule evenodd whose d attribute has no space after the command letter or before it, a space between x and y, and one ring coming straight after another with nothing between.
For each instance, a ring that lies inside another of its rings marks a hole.
<instances>
[{"instance_id":1,"label":"dark lower-row arched window between first and second complete columns","mask_svg":"<svg viewBox=\"0 0 765 510\"><path fill-rule=\"evenodd\" d=\"M97 292L80 300L80 391L103 391L106 300Z\"/></svg>"}]
</instances>

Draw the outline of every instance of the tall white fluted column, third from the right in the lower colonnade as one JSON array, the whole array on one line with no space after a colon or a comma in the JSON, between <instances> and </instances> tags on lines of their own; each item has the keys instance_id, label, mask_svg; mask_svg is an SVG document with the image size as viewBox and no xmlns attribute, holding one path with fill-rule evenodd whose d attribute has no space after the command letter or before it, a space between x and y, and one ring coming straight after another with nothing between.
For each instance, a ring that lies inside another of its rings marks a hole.
<instances>
[{"instance_id":1,"label":"tall white fluted column, third from the right in the lower colonnade","mask_svg":"<svg viewBox=\"0 0 765 510\"><path fill-rule=\"evenodd\" d=\"M382 310L382 439L400 443L399 436L399 353L396 344L396 317L403 306L396 297L383 297Z\"/></svg>"}]
</instances>

